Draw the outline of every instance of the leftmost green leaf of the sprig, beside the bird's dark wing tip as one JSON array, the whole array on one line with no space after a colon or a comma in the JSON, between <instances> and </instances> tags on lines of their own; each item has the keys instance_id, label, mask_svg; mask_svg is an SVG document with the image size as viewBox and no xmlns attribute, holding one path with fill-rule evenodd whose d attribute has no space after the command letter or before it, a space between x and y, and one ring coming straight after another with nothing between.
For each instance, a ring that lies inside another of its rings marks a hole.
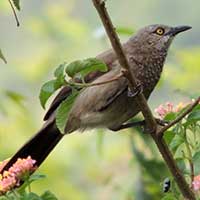
<instances>
[{"instance_id":1,"label":"leftmost green leaf of the sprig, beside the bird's dark wing tip","mask_svg":"<svg viewBox=\"0 0 200 200\"><path fill-rule=\"evenodd\" d=\"M45 108L46 102L49 97L58 90L63 84L59 80L51 80L46 82L40 89L40 104Z\"/></svg>"}]
</instances>

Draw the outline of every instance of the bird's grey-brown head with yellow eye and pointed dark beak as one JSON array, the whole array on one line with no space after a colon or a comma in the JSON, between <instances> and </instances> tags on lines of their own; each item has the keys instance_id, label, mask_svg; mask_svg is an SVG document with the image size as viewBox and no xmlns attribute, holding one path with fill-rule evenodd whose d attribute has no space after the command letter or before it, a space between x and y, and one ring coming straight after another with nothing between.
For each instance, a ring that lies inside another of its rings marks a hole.
<instances>
[{"instance_id":1,"label":"bird's grey-brown head with yellow eye and pointed dark beak","mask_svg":"<svg viewBox=\"0 0 200 200\"><path fill-rule=\"evenodd\" d=\"M140 29L134 36L134 41L139 43L142 51L145 49L167 51L174 37L189 29L191 29L190 26L150 25Z\"/></svg>"}]
</instances>

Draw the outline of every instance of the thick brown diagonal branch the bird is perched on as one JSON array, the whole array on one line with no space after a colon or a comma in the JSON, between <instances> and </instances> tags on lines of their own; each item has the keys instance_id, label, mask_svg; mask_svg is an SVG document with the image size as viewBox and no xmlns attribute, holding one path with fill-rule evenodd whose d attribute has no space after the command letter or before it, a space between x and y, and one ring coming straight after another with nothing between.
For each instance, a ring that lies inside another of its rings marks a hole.
<instances>
[{"instance_id":1,"label":"thick brown diagonal branch the bird is perched on","mask_svg":"<svg viewBox=\"0 0 200 200\"><path fill-rule=\"evenodd\" d=\"M130 70L130 65L128 60L123 52L120 40L118 38L117 33L115 32L115 28L111 22L111 19L108 15L108 12L105 8L105 2L103 0L92 0L93 4L98 11L98 14L102 20L102 23L105 27L107 35L110 39L112 47L117 55L120 65L124 68L127 73L125 73L126 78L129 81L129 87L133 91L134 88L137 86L136 79L133 72ZM188 200L195 200L194 193L190 190L184 176L181 174L180 170L178 169L175 160L173 159L173 155L171 154L168 146L166 145L165 141L162 137L158 137L157 135L157 128L158 125L155 121L155 118L152 115L152 112L147 104L147 101L143 94L139 94L136 97L137 104L139 105L143 116L146 120L146 124L148 129L150 130L151 136L156 143L162 157L164 158L165 162L167 163L171 173L173 174L177 185L183 196Z\"/></svg>"}]
</instances>

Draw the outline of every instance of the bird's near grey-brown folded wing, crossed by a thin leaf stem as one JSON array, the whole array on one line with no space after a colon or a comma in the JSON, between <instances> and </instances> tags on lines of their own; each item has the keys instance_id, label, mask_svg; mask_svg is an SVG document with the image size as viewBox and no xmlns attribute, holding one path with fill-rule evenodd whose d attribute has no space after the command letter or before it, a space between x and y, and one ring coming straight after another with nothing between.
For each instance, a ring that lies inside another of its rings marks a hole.
<instances>
[{"instance_id":1,"label":"bird's near grey-brown folded wing, crossed by a thin leaf stem","mask_svg":"<svg viewBox=\"0 0 200 200\"><path fill-rule=\"evenodd\" d=\"M105 82L119 75L120 69L114 68L100 76L92 83ZM75 113L101 112L105 110L128 87L126 78L121 77L116 81L103 85L85 88L77 97L72 110ZM73 112L73 111L72 111ZM75 114L76 115L76 114Z\"/></svg>"}]
</instances>

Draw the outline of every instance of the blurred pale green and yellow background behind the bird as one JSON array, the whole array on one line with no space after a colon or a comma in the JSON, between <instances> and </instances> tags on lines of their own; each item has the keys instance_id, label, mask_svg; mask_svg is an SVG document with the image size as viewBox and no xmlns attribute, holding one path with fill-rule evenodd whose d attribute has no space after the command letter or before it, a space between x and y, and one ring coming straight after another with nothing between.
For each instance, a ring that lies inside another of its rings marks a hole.
<instances>
[{"instance_id":1,"label":"blurred pale green and yellow background behind the bird","mask_svg":"<svg viewBox=\"0 0 200 200\"><path fill-rule=\"evenodd\" d=\"M200 87L199 1L107 0L117 27L137 30L148 24L191 25L174 41L162 79L149 102L186 102ZM94 57L110 48L89 0L21 0L15 20L7 0L0 1L0 160L10 157L42 125L38 94L63 61ZM128 33L120 34L122 41ZM61 200L156 200L168 176L148 135L136 130L93 130L72 134L40 167L47 178L33 185Z\"/></svg>"}]
</instances>

